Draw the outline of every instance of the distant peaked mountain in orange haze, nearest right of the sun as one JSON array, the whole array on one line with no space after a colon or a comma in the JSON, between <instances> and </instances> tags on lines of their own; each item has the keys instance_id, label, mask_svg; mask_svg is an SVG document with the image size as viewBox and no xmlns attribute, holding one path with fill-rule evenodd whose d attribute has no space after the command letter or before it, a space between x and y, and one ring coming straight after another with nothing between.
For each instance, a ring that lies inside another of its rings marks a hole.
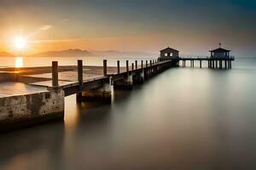
<instances>
[{"instance_id":1,"label":"distant peaked mountain in orange haze, nearest right of the sun","mask_svg":"<svg viewBox=\"0 0 256 170\"><path fill-rule=\"evenodd\" d=\"M27 57L87 57L94 56L87 50L82 49L67 49L61 51L46 51L38 54L30 54Z\"/></svg>"}]
</instances>

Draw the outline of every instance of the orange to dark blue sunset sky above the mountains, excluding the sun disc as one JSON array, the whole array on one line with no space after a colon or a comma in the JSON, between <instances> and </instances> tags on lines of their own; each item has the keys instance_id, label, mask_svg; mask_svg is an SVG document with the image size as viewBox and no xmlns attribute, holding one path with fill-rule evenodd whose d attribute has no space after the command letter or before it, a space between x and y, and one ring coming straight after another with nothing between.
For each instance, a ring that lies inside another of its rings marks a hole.
<instances>
[{"instance_id":1,"label":"orange to dark blue sunset sky above the mountains, excluding the sun disc","mask_svg":"<svg viewBox=\"0 0 256 170\"><path fill-rule=\"evenodd\" d=\"M83 48L182 54L218 47L256 56L255 0L0 0L0 51L24 53Z\"/></svg>"}]
</instances>

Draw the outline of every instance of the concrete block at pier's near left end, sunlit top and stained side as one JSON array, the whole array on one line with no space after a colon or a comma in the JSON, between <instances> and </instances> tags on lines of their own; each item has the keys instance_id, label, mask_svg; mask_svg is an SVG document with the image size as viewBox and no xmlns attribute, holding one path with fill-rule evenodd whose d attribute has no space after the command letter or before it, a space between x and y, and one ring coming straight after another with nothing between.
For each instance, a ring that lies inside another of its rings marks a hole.
<instances>
[{"instance_id":1,"label":"concrete block at pier's near left end, sunlit top and stained side","mask_svg":"<svg viewBox=\"0 0 256 170\"><path fill-rule=\"evenodd\" d=\"M62 119L64 91L22 82L0 83L0 131Z\"/></svg>"}]
</instances>

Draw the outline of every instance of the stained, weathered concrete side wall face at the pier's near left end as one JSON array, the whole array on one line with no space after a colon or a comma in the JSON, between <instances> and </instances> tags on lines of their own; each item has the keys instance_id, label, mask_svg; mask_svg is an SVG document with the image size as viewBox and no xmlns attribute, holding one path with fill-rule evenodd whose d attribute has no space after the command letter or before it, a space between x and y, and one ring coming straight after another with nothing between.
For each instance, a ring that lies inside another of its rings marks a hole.
<instances>
[{"instance_id":1,"label":"stained, weathered concrete side wall face at the pier's near left end","mask_svg":"<svg viewBox=\"0 0 256 170\"><path fill-rule=\"evenodd\" d=\"M64 91L0 98L0 130L63 118Z\"/></svg>"}]
</instances>

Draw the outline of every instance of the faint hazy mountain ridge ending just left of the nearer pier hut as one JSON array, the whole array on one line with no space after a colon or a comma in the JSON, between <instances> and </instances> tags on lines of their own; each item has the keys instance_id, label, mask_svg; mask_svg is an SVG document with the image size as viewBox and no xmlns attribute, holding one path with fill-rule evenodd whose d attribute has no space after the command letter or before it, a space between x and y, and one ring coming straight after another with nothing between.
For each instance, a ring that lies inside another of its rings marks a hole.
<instances>
[{"instance_id":1,"label":"faint hazy mountain ridge ending just left of the nearer pier hut","mask_svg":"<svg viewBox=\"0 0 256 170\"><path fill-rule=\"evenodd\" d=\"M151 57L157 54L150 54L141 51L117 51L117 50L107 50L107 51L90 51L96 56L102 57Z\"/></svg>"}]
</instances>

